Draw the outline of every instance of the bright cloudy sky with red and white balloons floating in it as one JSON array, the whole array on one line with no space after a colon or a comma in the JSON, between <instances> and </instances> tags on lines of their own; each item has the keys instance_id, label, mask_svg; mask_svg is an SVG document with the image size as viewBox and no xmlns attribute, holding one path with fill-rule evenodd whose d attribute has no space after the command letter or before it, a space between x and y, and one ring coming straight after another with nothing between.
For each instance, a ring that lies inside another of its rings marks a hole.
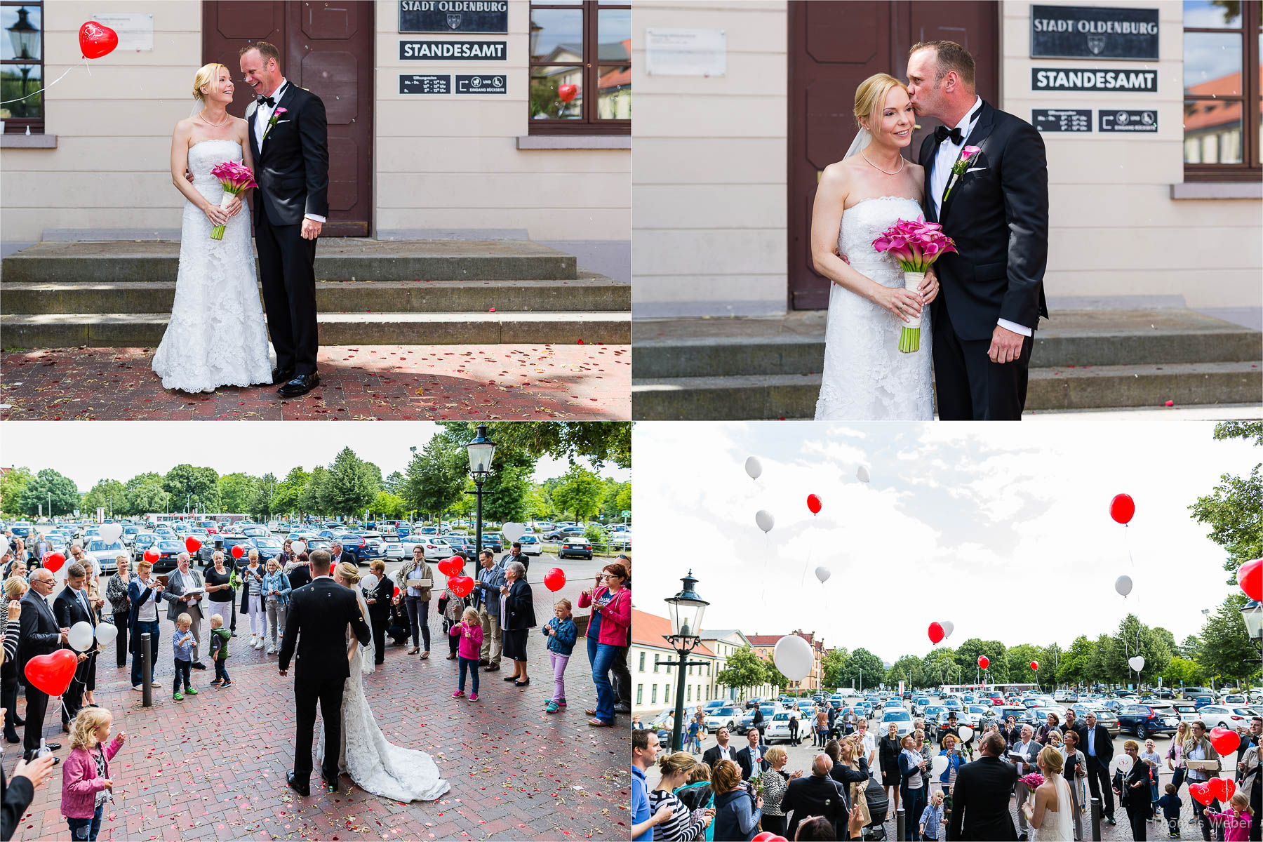
<instances>
[{"instance_id":1,"label":"bright cloudy sky with red and white balloons floating in it","mask_svg":"<svg viewBox=\"0 0 1263 842\"><path fill-rule=\"evenodd\" d=\"M936 620L956 626L946 645L1067 646L1116 631L1130 611L1182 640L1230 592L1225 554L1188 505L1220 475L1263 461L1263 448L1216 442L1212 428L637 424L634 605L666 616L663 600L692 568L707 629L802 629L885 661L927 654ZM749 456L762 461L758 480ZM1127 528L1109 516L1119 492L1135 500ZM808 494L822 500L816 516ZM767 534L759 510L775 519ZM1127 598L1114 590L1120 574L1134 582Z\"/></svg>"}]
</instances>

